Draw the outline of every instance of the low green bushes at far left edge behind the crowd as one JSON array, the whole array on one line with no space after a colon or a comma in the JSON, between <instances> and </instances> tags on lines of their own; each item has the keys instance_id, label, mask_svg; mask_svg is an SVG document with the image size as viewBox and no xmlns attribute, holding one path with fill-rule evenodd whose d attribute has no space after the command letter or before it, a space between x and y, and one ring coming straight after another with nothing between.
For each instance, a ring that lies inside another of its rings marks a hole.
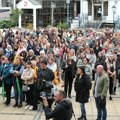
<instances>
[{"instance_id":1,"label":"low green bushes at far left edge behind the crowd","mask_svg":"<svg viewBox=\"0 0 120 120\"><path fill-rule=\"evenodd\" d=\"M15 27L16 23L12 20L1 20L0 29Z\"/></svg>"}]
</instances>

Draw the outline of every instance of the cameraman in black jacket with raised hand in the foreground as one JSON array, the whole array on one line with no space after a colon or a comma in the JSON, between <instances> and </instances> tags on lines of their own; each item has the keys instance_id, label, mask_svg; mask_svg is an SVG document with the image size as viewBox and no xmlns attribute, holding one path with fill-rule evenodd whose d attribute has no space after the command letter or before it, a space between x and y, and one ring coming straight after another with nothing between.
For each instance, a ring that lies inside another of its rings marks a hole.
<instances>
[{"instance_id":1,"label":"cameraman in black jacket with raised hand in the foreground","mask_svg":"<svg viewBox=\"0 0 120 120\"><path fill-rule=\"evenodd\" d=\"M65 96L65 92L62 90L54 93L54 100L56 103L54 110L51 110L48 107L47 99L45 97L42 98L45 106L44 110L46 119L53 118L53 120L71 120L73 113L72 103L69 99L66 99Z\"/></svg>"}]
</instances>

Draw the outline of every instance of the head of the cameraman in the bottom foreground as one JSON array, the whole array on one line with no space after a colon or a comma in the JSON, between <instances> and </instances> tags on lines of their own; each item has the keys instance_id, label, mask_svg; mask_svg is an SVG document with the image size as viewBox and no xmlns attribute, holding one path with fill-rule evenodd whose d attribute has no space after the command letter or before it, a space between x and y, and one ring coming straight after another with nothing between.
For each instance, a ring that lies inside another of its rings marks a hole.
<instances>
[{"instance_id":1,"label":"head of the cameraman in the bottom foreground","mask_svg":"<svg viewBox=\"0 0 120 120\"><path fill-rule=\"evenodd\" d=\"M63 90L58 90L54 93L54 101L59 103L66 97L66 94Z\"/></svg>"}]
</instances>

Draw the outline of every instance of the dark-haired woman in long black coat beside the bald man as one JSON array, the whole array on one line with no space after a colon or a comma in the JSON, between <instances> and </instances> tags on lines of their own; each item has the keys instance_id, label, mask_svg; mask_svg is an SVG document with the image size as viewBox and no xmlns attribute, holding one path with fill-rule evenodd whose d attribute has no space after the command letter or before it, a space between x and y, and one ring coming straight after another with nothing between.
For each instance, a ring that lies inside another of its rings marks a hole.
<instances>
[{"instance_id":1,"label":"dark-haired woman in long black coat beside the bald man","mask_svg":"<svg viewBox=\"0 0 120 120\"><path fill-rule=\"evenodd\" d=\"M85 103L89 100L91 86L91 79L85 73L85 66L79 66L74 84L76 102L80 103L81 108L81 117L79 117L78 120L87 120Z\"/></svg>"}]
</instances>

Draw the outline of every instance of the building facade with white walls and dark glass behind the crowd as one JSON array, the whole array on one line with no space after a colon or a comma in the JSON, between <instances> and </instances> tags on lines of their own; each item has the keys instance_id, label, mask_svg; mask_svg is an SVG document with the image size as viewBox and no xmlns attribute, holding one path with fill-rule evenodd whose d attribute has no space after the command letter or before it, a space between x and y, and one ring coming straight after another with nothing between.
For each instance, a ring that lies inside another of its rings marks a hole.
<instances>
[{"instance_id":1,"label":"building facade with white walls and dark glass behind the crowd","mask_svg":"<svg viewBox=\"0 0 120 120\"><path fill-rule=\"evenodd\" d=\"M23 4L20 7L21 1ZM66 1L69 0L0 0L0 7L22 9L23 15L19 19L21 20L20 27L35 24L33 23L35 22L34 13L36 14L35 26L57 25L59 22L66 22L67 14L69 14L69 21L78 19L81 24L85 21L113 21L113 5L116 6L114 19L117 20L120 16L120 0L70 0L69 13ZM36 7L34 12L31 7L25 7L27 2L34 6L39 4L41 8Z\"/></svg>"}]
</instances>

